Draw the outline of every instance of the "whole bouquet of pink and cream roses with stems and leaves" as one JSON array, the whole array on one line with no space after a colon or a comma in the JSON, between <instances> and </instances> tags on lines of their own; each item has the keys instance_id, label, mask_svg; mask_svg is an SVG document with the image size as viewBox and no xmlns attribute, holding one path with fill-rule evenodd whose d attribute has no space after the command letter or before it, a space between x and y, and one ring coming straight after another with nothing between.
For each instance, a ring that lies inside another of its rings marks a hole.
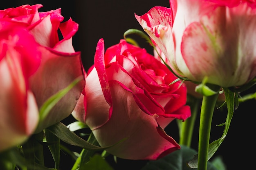
<instances>
[{"instance_id":1,"label":"whole bouquet of pink and cream roses with stems and leaves","mask_svg":"<svg viewBox=\"0 0 256 170\"><path fill-rule=\"evenodd\" d=\"M148 161L141 170L225 170L211 158L239 102L255 98L241 92L256 83L256 2L170 0L169 8L135 14L144 31L129 29L106 50L99 39L89 70L72 46L78 24L41 7L0 10L1 169L58 170L65 152L72 170L112 170L108 155ZM227 119L210 142L217 107ZM68 116L74 122L64 124ZM179 141L165 131L174 121Z\"/></svg>"}]
</instances>

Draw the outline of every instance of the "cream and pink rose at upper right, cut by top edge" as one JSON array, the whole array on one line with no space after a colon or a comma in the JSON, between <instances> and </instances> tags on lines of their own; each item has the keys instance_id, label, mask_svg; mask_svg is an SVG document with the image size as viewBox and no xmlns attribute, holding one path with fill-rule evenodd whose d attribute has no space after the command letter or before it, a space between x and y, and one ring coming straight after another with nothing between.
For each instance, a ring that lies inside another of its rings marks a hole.
<instances>
[{"instance_id":1,"label":"cream and pink rose at upper right, cut by top edge","mask_svg":"<svg viewBox=\"0 0 256 170\"><path fill-rule=\"evenodd\" d=\"M256 76L255 2L170 0L135 15L182 76L222 87L244 85Z\"/></svg>"}]
</instances>

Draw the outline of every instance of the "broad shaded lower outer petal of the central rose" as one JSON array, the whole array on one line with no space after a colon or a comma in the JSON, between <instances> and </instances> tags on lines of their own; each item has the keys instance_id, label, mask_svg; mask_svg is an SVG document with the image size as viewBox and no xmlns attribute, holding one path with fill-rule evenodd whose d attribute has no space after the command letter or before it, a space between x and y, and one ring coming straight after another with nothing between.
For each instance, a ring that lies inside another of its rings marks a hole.
<instances>
[{"instance_id":1,"label":"broad shaded lower outer petal of the central rose","mask_svg":"<svg viewBox=\"0 0 256 170\"><path fill-rule=\"evenodd\" d=\"M110 146L127 137L124 142L107 151L125 159L151 160L180 148L173 138L158 127L155 118L141 114L141 109L135 104L131 92L116 81L111 81L110 87L115 89L111 90L113 99L111 119L104 126L93 130L101 146Z\"/></svg>"}]
</instances>

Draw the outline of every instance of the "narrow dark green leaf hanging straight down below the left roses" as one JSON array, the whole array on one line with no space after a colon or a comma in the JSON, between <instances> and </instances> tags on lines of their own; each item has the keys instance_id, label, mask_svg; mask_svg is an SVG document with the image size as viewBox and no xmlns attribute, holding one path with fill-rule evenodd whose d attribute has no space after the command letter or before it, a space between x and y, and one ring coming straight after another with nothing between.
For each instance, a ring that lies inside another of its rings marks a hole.
<instances>
[{"instance_id":1,"label":"narrow dark green leaf hanging straight down below the left roses","mask_svg":"<svg viewBox=\"0 0 256 170\"><path fill-rule=\"evenodd\" d=\"M55 168L58 169L60 166L60 139L56 137L48 129L45 129L45 137L48 144L48 148L52 153L52 157L55 162Z\"/></svg>"}]
</instances>

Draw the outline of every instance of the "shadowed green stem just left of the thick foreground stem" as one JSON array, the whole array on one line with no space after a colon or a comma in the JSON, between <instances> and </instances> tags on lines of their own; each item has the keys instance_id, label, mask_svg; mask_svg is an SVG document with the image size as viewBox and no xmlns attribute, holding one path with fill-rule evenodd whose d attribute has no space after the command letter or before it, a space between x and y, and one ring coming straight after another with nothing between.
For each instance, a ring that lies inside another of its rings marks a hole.
<instances>
[{"instance_id":1,"label":"shadowed green stem just left of the thick foreground stem","mask_svg":"<svg viewBox=\"0 0 256 170\"><path fill-rule=\"evenodd\" d=\"M192 98L188 105L191 108L191 117L187 118L184 122L180 122L180 145L190 147L193 136L194 124L198 114L200 98ZM182 120L179 120L182 121Z\"/></svg>"}]
</instances>

